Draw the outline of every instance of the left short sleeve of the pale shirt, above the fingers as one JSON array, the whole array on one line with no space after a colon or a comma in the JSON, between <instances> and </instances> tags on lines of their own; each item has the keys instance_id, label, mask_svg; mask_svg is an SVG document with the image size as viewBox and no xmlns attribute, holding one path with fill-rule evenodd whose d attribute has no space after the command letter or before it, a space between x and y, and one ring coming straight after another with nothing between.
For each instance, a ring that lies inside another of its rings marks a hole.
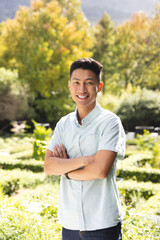
<instances>
[{"instance_id":1,"label":"left short sleeve of the pale shirt, above the fingers","mask_svg":"<svg viewBox=\"0 0 160 240\"><path fill-rule=\"evenodd\" d=\"M58 145L63 144L62 133L63 133L62 127L61 127L61 123L59 121L55 127L54 134L52 136L52 139L51 139L47 149L49 149L50 151L53 152L53 147L55 146L55 144L58 144Z\"/></svg>"}]
</instances>

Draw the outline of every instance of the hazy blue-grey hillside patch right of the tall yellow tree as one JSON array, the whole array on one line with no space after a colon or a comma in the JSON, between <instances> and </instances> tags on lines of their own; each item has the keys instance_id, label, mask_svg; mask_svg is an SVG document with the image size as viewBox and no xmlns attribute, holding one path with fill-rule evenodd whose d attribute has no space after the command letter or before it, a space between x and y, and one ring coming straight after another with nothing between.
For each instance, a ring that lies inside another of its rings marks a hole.
<instances>
[{"instance_id":1,"label":"hazy blue-grey hillside patch right of the tall yellow tree","mask_svg":"<svg viewBox=\"0 0 160 240\"><path fill-rule=\"evenodd\" d=\"M107 12L116 23L121 23L137 11L151 16L160 0L82 0L82 10L90 22L97 22Z\"/></svg>"}]
</instances>

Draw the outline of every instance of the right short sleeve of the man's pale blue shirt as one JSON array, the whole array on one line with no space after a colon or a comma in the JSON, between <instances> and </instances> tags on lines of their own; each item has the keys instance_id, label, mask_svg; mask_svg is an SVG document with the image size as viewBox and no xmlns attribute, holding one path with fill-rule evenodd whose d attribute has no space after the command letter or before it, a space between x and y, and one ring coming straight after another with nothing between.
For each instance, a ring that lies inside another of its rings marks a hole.
<instances>
[{"instance_id":1,"label":"right short sleeve of the man's pale blue shirt","mask_svg":"<svg viewBox=\"0 0 160 240\"><path fill-rule=\"evenodd\" d=\"M98 150L110 150L117 152L117 160L125 155L125 132L119 117L112 119L104 128L99 139Z\"/></svg>"}]
</instances>

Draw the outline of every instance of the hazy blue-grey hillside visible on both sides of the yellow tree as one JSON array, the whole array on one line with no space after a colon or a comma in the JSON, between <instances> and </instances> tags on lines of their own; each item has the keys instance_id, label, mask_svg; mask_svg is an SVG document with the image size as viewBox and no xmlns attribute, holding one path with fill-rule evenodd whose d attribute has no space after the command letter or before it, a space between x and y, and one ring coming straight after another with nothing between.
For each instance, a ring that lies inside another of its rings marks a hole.
<instances>
[{"instance_id":1,"label":"hazy blue-grey hillside visible on both sides of the yellow tree","mask_svg":"<svg viewBox=\"0 0 160 240\"><path fill-rule=\"evenodd\" d=\"M116 23L130 18L136 11L145 11L151 15L155 3L160 0L82 0L82 11L92 23L97 22L107 12ZM0 0L0 22L13 18L19 6L30 5L30 0Z\"/></svg>"}]
</instances>

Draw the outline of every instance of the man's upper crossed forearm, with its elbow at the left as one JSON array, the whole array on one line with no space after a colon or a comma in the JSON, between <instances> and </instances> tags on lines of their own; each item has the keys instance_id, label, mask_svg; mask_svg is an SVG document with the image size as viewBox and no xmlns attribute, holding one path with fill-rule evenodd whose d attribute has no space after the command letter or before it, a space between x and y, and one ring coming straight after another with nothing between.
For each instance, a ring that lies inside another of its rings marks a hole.
<instances>
[{"instance_id":1,"label":"man's upper crossed forearm, with its elbow at the left","mask_svg":"<svg viewBox=\"0 0 160 240\"><path fill-rule=\"evenodd\" d=\"M88 166L95 160L95 155L78 158L47 157L44 162L44 171L47 175L64 175L81 167Z\"/></svg>"}]
</instances>

